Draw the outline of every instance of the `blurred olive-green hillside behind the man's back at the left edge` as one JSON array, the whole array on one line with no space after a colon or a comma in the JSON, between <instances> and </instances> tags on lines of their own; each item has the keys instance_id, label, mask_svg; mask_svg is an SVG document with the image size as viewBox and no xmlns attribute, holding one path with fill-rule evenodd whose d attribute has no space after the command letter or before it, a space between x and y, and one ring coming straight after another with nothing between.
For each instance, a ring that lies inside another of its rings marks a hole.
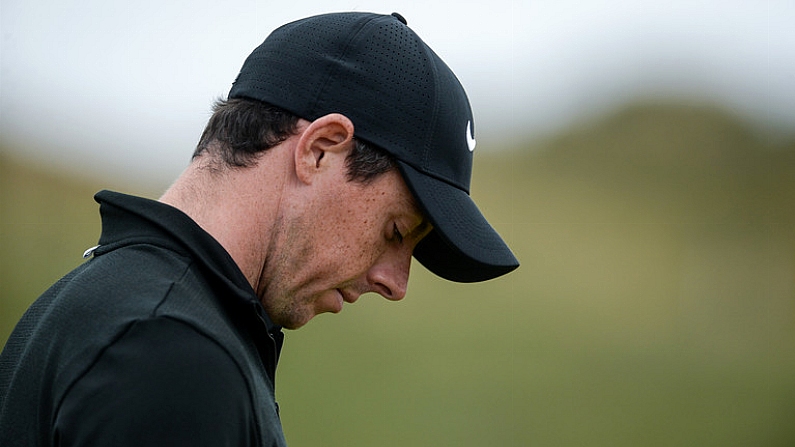
<instances>
[{"instance_id":1,"label":"blurred olive-green hillside behind the man's back at the left edge","mask_svg":"<svg viewBox=\"0 0 795 447\"><path fill-rule=\"evenodd\" d=\"M6 148L3 148L6 149ZM0 340L99 238L97 186L0 151Z\"/></svg>"}]
</instances>

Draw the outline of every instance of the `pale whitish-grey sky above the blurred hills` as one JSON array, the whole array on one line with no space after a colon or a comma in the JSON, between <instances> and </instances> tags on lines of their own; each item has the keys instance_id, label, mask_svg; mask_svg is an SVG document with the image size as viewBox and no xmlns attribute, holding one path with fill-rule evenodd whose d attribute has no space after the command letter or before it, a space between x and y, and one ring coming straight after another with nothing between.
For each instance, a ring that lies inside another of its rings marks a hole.
<instances>
[{"instance_id":1,"label":"pale whitish-grey sky above the blurred hills","mask_svg":"<svg viewBox=\"0 0 795 447\"><path fill-rule=\"evenodd\" d=\"M0 138L99 177L167 182L270 31L345 10L408 20L469 93L478 150L639 93L795 134L791 0L0 0Z\"/></svg>"}]
</instances>

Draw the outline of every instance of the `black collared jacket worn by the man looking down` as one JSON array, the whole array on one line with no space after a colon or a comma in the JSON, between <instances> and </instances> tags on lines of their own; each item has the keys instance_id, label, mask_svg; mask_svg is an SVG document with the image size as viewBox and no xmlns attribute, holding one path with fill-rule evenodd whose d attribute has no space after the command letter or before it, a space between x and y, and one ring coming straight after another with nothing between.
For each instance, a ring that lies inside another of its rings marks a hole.
<instances>
[{"instance_id":1,"label":"black collared jacket worn by the man looking down","mask_svg":"<svg viewBox=\"0 0 795 447\"><path fill-rule=\"evenodd\" d=\"M93 258L0 354L0 445L282 446L283 340L229 254L168 205L102 191Z\"/></svg>"}]
</instances>

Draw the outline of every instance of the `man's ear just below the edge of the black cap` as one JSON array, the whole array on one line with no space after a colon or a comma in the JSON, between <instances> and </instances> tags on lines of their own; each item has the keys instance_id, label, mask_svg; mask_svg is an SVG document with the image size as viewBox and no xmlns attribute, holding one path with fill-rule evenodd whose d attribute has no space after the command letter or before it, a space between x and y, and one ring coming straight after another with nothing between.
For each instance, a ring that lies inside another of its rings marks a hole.
<instances>
[{"instance_id":1,"label":"man's ear just below the edge of the black cap","mask_svg":"<svg viewBox=\"0 0 795 447\"><path fill-rule=\"evenodd\" d=\"M316 173L344 160L353 141L353 122L347 116L330 113L309 123L298 138L295 148L295 170L304 183L311 183Z\"/></svg>"}]
</instances>

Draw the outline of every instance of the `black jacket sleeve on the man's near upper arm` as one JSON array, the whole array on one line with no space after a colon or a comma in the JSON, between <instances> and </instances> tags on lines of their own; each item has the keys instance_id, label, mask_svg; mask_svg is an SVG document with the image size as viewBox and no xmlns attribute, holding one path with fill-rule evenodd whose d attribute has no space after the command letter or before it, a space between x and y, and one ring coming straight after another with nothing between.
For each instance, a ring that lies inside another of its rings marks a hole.
<instances>
[{"instance_id":1,"label":"black jacket sleeve on the man's near upper arm","mask_svg":"<svg viewBox=\"0 0 795 447\"><path fill-rule=\"evenodd\" d=\"M56 445L248 446L257 425L227 352L170 318L134 323L64 396Z\"/></svg>"}]
</instances>

